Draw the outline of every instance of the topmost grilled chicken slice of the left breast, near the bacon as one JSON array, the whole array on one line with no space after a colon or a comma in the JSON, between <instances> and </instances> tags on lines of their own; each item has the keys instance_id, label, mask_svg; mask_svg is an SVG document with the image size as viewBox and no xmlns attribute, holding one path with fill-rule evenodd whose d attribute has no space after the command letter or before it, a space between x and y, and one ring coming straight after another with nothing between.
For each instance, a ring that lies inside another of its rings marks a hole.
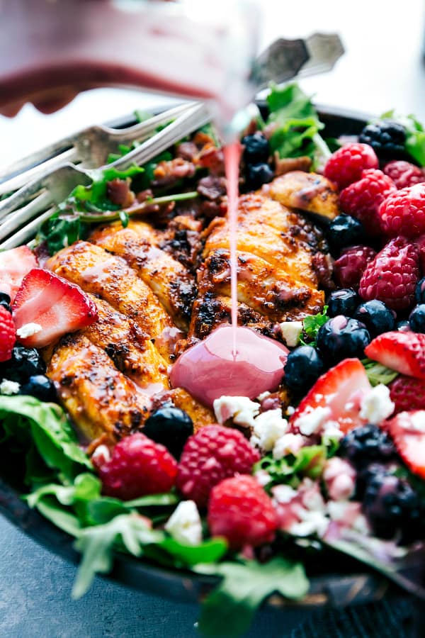
<instances>
[{"instance_id":1,"label":"topmost grilled chicken slice of the left breast, near the bacon","mask_svg":"<svg viewBox=\"0 0 425 638\"><path fill-rule=\"evenodd\" d=\"M143 224L141 228L145 230L145 226ZM137 224L130 228L108 225L95 230L90 237L91 242L123 257L152 289L174 323L187 332L196 298L195 278L183 264L158 248L156 239L149 240L147 233L138 233Z\"/></svg>"}]
</instances>

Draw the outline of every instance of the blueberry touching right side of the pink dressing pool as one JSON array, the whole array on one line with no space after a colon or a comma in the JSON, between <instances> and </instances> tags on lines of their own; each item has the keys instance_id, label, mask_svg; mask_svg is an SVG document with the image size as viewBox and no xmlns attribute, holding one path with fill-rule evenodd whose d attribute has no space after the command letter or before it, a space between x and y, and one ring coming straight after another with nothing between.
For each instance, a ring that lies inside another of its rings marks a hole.
<instances>
[{"instance_id":1,"label":"blueberry touching right side of the pink dressing pool","mask_svg":"<svg viewBox=\"0 0 425 638\"><path fill-rule=\"evenodd\" d=\"M291 390L310 388L324 372L324 363L317 349L298 346L291 350L285 363L285 385Z\"/></svg>"}]
</instances>

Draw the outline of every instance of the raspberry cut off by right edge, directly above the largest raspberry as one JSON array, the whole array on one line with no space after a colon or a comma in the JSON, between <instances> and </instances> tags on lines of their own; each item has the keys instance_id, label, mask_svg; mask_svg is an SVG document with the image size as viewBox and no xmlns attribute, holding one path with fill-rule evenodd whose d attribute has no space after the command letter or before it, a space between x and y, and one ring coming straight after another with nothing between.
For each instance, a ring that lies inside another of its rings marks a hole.
<instances>
[{"instance_id":1,"label":"raspberry cut off by right edge, directly above the largest raspberry","mask_svg":"<svg viewBox=\"0 0 425 638\"><path fill-rule=\"evenodd\" d=\"M418 237L425 233L425 184L390 194L382 202L379 215L389 237Z\"/></svg>"}]
</instances>

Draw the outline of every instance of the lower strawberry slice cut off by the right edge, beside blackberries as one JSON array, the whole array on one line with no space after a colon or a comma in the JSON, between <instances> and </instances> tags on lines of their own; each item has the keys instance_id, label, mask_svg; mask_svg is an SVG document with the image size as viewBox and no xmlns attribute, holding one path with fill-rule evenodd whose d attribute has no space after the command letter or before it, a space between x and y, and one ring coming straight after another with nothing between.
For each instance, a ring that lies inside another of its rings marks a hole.
<instances>
[{"instance_id":1,"label":"lower strawberry slice cut off by the right edge, beside blackberries","mask_svg":"<svg viewBox=\"0 0 425 638\"><path fill-rule=\"evenodd\" d=\"M425 410L400 412L385 423L407 467L425 478Z\"/></svg>"}]
</instances>

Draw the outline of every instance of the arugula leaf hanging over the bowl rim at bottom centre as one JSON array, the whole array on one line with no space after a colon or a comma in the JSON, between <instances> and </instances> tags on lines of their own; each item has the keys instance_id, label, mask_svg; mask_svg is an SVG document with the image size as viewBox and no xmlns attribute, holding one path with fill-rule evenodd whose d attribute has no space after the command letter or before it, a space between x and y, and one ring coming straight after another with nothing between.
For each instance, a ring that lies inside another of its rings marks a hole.
<instances>
[{"instance_id":1,"label":"arugula leaf hanging over the bowl rim at bottom centre","mask_svg":"<svg viewBox=\"0 0 425 638\"><path fill-rule=\"evenodd\" d=\"M239 636L249 629L256 610L269 595L277 592L297 600L309 588L302 564L280 557L264 564L225 562L194 569L222 576L201 610L199 629L208 636Z\"/></svg>"}]
</instances>

